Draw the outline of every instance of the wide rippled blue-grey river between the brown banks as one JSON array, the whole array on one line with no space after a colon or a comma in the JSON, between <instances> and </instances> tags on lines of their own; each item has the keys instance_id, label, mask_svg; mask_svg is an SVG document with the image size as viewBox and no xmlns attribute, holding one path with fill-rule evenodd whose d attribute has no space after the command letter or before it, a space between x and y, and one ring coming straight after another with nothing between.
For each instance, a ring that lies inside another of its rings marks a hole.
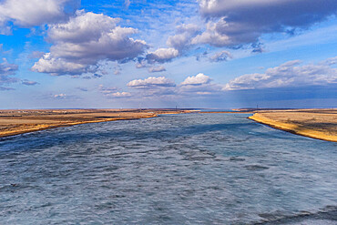
<instances>
[{"instance_id":1,"label":"wide rippled blue-grey river between the brown banks","mask_svg":"<svg viewBox=\"0 0 337 225\"><path fill-rule=\"evenodd\" d=\"M336 224L337 143L248 116L0 138L0 224Z\"/></svg>"}]
</instances>

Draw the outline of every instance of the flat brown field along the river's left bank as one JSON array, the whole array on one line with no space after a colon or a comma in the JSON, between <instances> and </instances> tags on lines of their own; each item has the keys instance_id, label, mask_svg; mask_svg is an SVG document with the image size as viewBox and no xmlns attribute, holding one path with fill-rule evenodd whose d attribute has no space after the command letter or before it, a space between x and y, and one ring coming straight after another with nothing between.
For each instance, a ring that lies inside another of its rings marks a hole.
<instances>
[{"instance_id":1,"label":"flat brown field along the river's left bank","mask_svg":"<svg viewBox=\"0 0 337 225\"><path fill-rule=\"evenodd\" d=\"M29 109L0 110L0 138L47 128L120 119L154 118L158 114L189 113L174 109Z\"/></svg>"}]
</instances>

